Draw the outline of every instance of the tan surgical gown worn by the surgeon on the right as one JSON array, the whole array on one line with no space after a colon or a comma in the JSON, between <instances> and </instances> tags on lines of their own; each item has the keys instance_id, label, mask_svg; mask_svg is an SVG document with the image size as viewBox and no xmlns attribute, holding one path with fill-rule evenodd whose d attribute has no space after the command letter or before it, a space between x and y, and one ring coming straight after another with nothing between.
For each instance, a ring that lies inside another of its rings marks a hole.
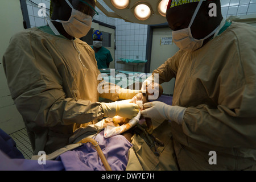
<instances>
[{"instance_id":1,"label":"tan surgical gown worn by the surgeon on the right","mask_svg":"<svg viewBox=\"0 0 256 182\"><path fill-rule=\"evenodd\" d=\"M176 77L172 105L187 107L182 125L171 126L181 170L256 169L255 27L233 22L195 52L178 51L154 73L160 84Z\"/></svg>"}]
</instances>

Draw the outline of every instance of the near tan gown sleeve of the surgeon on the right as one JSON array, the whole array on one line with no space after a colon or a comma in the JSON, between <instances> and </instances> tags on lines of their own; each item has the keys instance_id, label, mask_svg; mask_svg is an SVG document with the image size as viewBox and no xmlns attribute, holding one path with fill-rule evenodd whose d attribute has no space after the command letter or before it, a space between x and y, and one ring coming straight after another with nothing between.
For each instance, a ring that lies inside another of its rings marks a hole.
<instances>
[{"instance_id":1,"label":"near tan gown sleeve of the surgeon on the right","mask_svg":"<svg viewBox=\"0 0 256 182\"><path fill-rule=\"evenodd\" d=\"M255 30L253 34L256 35ZM217 97L217 107L188 107L182 129L185 135L215 146L255 148L256 42L250 36L234 37L237 40L232 52L225 57L229 64L211 90Z\"/></svg>"}]
</instances>

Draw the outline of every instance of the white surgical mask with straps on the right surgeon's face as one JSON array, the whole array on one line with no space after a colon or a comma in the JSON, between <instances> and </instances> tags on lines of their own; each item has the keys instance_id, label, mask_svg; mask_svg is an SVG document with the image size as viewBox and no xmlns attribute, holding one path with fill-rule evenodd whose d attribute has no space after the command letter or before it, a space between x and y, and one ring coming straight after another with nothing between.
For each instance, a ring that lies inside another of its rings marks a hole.
<instances>
[{"instance_id":1,"label":"white surgical mask with straps on the right surgeon's face","mask_svg":"<svg viewBox=\"0 0 256 182\"><path fill-rule=\"evenodd\" d=\"M207 35L203 39L195 39L192 36L191 33L191 26L193 24L193 21L196 18L196 15L200 9L200 6L202 5L203 1L201 0L199 4L196 7L195 13L192 16L191 22L189 23L188 28L184 28L177 31L172 31L172 40L176 44L177 47L179 47L182 50L185 51L195 51L196 49L199 49L203 46L203 42L205 39L208 39L210 36L212 36L218 29L218 27L213 30L209 35Z\"/></svg>"}]
</instances>

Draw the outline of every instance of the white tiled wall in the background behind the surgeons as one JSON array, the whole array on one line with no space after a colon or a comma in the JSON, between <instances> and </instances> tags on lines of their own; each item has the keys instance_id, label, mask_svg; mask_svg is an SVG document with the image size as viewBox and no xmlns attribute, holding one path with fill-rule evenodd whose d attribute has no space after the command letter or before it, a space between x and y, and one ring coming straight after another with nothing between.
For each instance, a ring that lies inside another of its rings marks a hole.
<instances>
[{"instance_id":1,"label":"white tiled wall in the background behind the surgeons","mask_svg":"<svg viewBox=\"0 0 256 182\"><path fill-rule=\"evenodd\" d=\"M38 16L40 2L46 3L49 9L50 0L27 0L28 14L30 17L31 27L43 26L46 24L44 18ZM98 0L106 10L112 11L102 0ZM256 0L221 0L222 15L228 18L230 15L249 15L256 14ZM147 42L147 25L138 23L127 23L122 19L109 18L96 8L99 15L95 16L96 20L113 25L115 29L115 69L123 71L133 71L132 65L118 64L119 58L145 60L146 59L146 42ZM135 67L137 72L143 72L144 67Z\"/></svg>"}]
</instances>

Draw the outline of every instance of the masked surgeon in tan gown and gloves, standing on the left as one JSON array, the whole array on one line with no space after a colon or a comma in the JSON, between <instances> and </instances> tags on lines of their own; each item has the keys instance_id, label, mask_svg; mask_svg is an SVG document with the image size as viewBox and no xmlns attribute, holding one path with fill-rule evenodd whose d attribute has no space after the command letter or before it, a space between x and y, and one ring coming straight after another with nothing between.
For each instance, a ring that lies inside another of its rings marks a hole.
<instances>
[{"instance_id":1,"label":"masked surgeon in tan gown and gloves, standing on the left","mask_svg":"<svg viewBox=\"0 0 256 182\"><path fill-rule=\"evenodd\" d=\"M49 24L14 35L3 56L11 97L26 124L34 155L66 146L79 127L114 115L133 118L139 111L136 104L98 102L98 97L116 101L136 93L113 89L98 78L94 51L79 39L90 30L96 1L84 2L52 0ZM108 92L100 94L98 86Z\"/></svg>"}]
</instances>

